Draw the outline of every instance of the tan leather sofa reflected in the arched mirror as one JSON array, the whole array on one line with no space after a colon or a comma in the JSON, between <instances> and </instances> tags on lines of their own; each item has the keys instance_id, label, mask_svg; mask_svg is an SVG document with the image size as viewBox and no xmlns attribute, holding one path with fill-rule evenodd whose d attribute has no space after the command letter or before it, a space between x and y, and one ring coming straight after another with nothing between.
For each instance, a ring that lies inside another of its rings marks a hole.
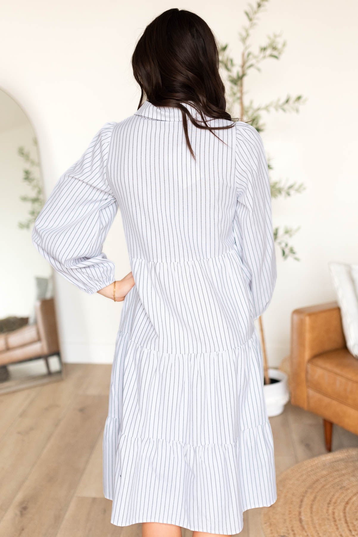
<instances>
[{"instance_id":1,"label":"tan leather sofa reflected in the arched mirror","mask_svg":"<svg viewBox=\"0 0 358 537\"><path fill-rule=\"evenodd\" d=\"M36 324L0 334L0 366L43 358L50 373L48 357L59 355L54 299L36 302L35 314Z\"/></svg>"}]
</instances>

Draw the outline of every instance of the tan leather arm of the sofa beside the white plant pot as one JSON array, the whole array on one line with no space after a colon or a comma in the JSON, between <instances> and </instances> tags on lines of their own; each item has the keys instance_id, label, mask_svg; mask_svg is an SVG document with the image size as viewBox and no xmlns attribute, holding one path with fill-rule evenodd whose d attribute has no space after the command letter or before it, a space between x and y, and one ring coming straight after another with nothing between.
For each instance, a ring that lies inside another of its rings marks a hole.
<instances>
[{"instance_id":1,"label":"tan leather arm of the sofa beside the white plant pot","mask_svg":"<svg viewBox=\"0 0 358 537\"><path fill-rule=\"evenodd\" d=\"M307 409L306 367L317 354L342 349L346 340L337 302L295 309L291 317L291 402Z\"/></svg>"}]
</instances>

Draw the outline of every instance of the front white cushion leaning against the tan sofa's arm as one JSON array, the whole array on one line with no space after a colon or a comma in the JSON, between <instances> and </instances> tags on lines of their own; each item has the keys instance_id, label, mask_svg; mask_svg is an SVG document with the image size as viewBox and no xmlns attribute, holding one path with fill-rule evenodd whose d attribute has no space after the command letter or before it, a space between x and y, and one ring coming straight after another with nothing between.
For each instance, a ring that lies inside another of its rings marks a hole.
<instances>
[{"instance_id":1,"label":"front white cushion leaning against the tan sofa's arm","mask_svg":"<svg viewBox=\"0 0 358 537\"><path fill-rule=\"evenodd\" d=\"M329 263L347 349L358 358L358 265Z\"/></svg>"}]
</instances>

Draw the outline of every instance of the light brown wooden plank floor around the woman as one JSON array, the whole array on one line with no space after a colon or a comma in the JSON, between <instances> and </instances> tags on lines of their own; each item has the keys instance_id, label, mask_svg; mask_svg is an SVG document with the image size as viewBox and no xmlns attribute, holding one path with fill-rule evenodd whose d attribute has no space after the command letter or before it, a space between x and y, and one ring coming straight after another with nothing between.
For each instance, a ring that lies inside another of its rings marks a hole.
<instances>
[{"instance_id":1,"label":"light brown wooden plank floor around the woman","mask_svg":"<svg viewBox=\"0 0 358 537\"><path fill-rule=\"evenodd\" d=\"M139 537L140 524L110 524L102 493L102 434L109 365L65 364L63 381L0 396L0 537ZM271 418L277 475L325 453L322 420L287 405ZM333 430L333 449L358 437ZM260 509L241 537L263 537ZM191 537L183 529L183 537Z\"/></svg>"}]
</instances>

